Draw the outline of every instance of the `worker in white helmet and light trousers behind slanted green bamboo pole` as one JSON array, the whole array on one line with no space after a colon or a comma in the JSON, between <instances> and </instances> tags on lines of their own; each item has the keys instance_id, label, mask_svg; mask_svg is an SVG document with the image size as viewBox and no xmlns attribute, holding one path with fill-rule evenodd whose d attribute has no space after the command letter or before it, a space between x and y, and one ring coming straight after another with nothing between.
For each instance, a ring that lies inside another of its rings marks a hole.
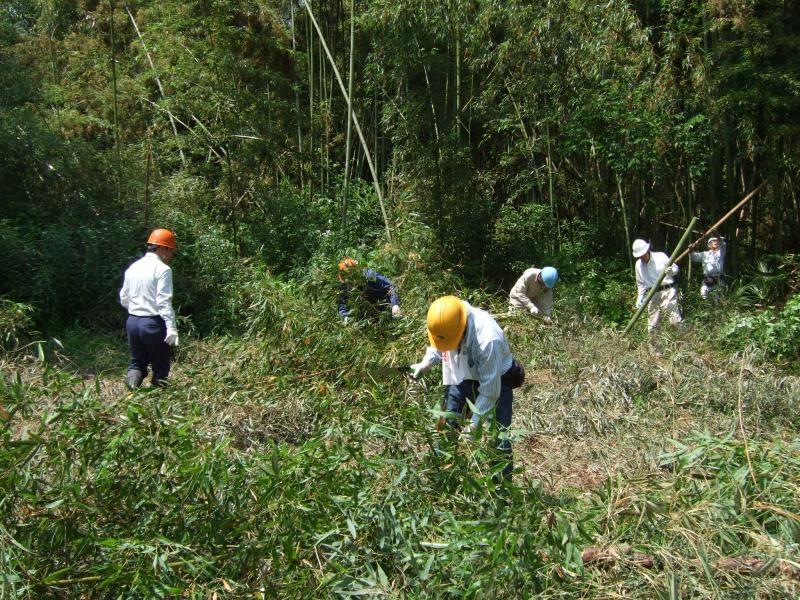
<instances>
[{"instance_id":1,"label":"worker in white helmet and light trousers behind slanted green bamboo pole","mask_svg":"<svg viewBox=\"0 0 800 600\"><path fill-rule=\"evenodd\" d=\"M678 290L675 287L675 276L678 274L678 265L672 264L667 268L669 257L663 252L651 252L650 244L644 240L633 242L633 256L636 261L636 308L644 302L644 297L650 288L655 285L661 273L666 269L666 275L661 280L658 290L653 294L647 306L647 332L652 334L662 317L669 319L670 324L683 329L683 317L678 307Z\"/></svg>"}]
</instances>

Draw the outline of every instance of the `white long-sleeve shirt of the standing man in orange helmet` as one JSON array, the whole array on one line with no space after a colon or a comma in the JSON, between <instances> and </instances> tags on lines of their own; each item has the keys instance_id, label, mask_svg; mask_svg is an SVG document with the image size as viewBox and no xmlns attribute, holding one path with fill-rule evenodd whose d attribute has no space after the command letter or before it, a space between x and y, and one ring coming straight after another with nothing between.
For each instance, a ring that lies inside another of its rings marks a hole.
<instances>
[{"instance_id":1,"label":"white long-sleeve shirt of the standing man in orange helmet","mask_svg":"<svg viewBox=\"0 0 800 600\"><path fill-rule=\"evenodd\" d=\"M125 271L119 302L130 315L160 315L168 330L178 329L172 309L172 269L155 252L148 252Z\"/></svg>"}]
</instances>

